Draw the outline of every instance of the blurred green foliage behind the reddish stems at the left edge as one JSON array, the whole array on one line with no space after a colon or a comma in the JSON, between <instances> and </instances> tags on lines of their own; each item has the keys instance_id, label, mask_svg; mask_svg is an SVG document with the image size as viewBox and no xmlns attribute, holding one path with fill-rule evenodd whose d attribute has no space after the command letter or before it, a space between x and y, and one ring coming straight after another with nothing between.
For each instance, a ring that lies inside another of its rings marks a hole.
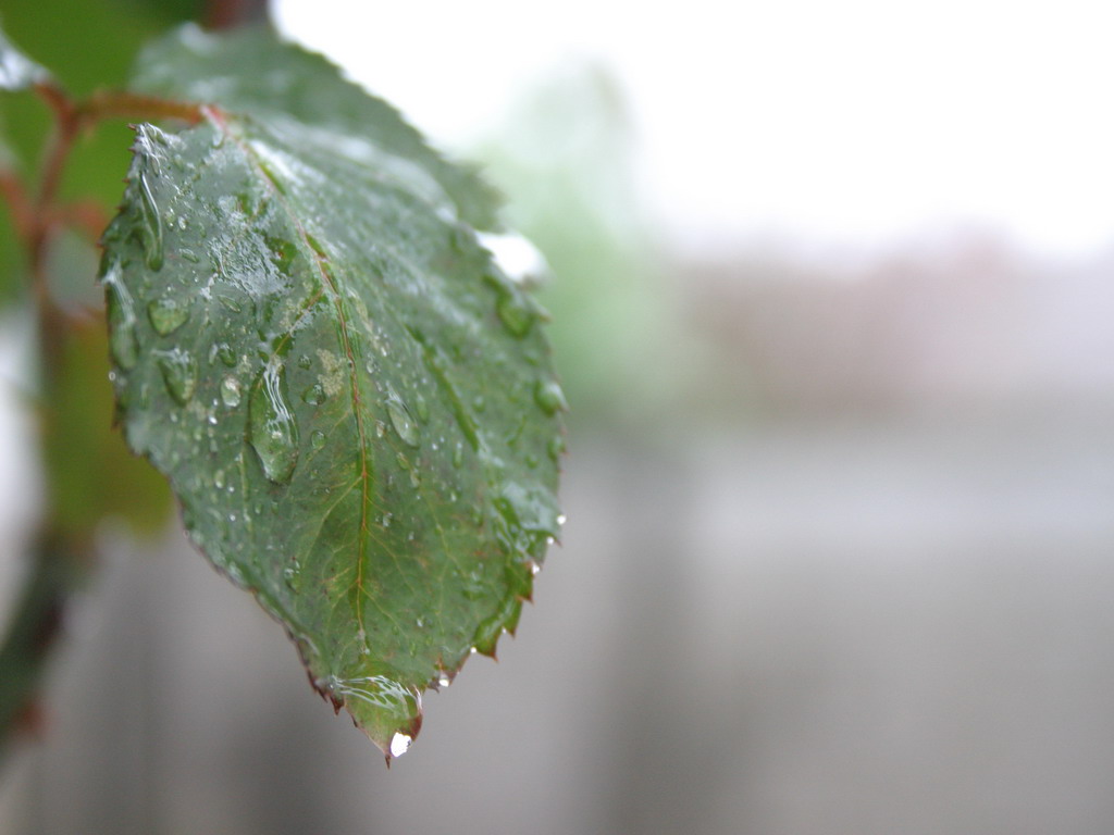
<instances>
[{"instance_id":1,"label":"blurred green foliage behind the reddish stems at the left edge","mask_svg":"<svg viewBox=\"0 0 1114 835\"><path fill-rule=\"evenodd\" d=\"M18 48L48 67L76 96L121 86L139 47L182 20L199 17L199 0L4 0L0 22ZM33 92L0 99L0 163L33 197L51 115ZM131 130L109 121L75 145L61 186L63 198L91 199L107 223L124 190ZM27 304L26 257L16 240L7 202L0 202L0 310ZM109 514L123 514L138 531L158 530L168 517L165 481L134 458L113 426L111 386L97 253L87 236L58 236L48 254L50 289L77 316L60 346L57 379L40 394L48 504L56 531L87 540Z\"/></svg>"}]
</instances>

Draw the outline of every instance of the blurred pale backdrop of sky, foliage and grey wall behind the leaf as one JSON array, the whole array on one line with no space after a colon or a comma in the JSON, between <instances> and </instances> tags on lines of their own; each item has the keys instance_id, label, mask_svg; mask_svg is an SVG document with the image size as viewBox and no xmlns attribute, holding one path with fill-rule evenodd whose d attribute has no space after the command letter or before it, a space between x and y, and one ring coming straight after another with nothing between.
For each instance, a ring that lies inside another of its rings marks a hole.
<instances>
[{"instance_id":1,"label":"blurred pale backdrop of sky, foliage and grey wall behind the leaf","mask_svg":"<svg viewBox=\"0 0 1114 835\"><path fill-rule=\"evenodd\" d=\"M106 524L0 833L1114 829L1101 6L394 7L274 17L551 266L536 606L387 772L180 536ZM20 334L0 613L40 490Z\"/></svg>"}]
</instances>

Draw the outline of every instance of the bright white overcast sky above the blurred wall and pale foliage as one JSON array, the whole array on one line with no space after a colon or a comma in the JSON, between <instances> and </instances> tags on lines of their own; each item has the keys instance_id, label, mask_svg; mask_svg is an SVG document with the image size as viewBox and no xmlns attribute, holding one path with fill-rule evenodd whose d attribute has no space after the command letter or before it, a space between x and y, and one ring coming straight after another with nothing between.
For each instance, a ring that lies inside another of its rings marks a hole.
<instances>
[{"instance_id":1,"label":"bright white overcast sky above the blurred wall and pale foliage","mask_svg":"<svg viewBox=\"0 0 1114 835\"><path fill-rule=\"evenodd\" d=\"M282 0L276 18L447 147L547 69L600 59L681 246L870 248L961 222L1047 254L1114 244L1098 0Z\"/></svg>"}]
</instances>

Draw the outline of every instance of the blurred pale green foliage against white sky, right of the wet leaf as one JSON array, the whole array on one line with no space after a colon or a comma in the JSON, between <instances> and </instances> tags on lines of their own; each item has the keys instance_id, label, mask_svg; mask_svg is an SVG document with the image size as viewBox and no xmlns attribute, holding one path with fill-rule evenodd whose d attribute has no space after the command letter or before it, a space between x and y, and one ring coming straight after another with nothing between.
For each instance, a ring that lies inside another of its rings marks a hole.
<instances>
[{"instance_id":1,"label":"blurred pale green foliage against white sky, right of the wet leaf","mask_svg":"<svg viewBox=\"0 0 1114 835\"><path fill-rule=\"evenodd\" d=\"M613 78L566 67L524 98L476 155L511 226L546 256L539 294L570 422L652 429L680 386L680 324L637 198L635 131Z\"/></svg>"}]
</instances>

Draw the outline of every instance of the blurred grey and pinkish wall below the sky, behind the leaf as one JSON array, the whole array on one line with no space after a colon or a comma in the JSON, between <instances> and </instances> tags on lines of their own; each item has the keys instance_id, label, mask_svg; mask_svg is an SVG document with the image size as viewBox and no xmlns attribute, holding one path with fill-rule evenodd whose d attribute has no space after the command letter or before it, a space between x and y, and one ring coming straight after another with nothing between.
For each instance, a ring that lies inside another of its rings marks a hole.
<instances>
[{"instance_id":1,"label":"blurred grey and pinkish wall below the sky, behind the leaf","mask_svg":"<svg viewBox=\"0 0 1114 835\"><path fill-rule=\"evenodd\" d=\"M1110 829L1104 297L988 263L678 271L706 400L574 423L537 605L390 772L201 557L117 539L0 832Z\"/></svg>"}]
</instances>

